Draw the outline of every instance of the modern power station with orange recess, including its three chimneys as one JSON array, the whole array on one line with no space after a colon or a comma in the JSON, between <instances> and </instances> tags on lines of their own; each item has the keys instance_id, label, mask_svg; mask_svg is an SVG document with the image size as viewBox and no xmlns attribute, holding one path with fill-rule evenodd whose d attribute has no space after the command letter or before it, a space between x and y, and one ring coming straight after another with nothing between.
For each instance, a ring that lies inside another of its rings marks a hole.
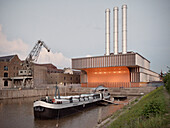
<instances>
[{"instance_id":1,"label":"modern power station with orange recess, including its three chimneys","mask_svg":"<svg viewBox=\"0 0 170 128\"><path fill-rule=\"evenodd\" d=\"M105 55L73 58L72 68L81 70L83 87L139 87L159 81L150 70L150 61L139 53L127 52L127 5L122 6L122 52L118 51L118 7L114 7L114 53L110 53L110 9L105 11Z\"/></svg>"}]
</instances>

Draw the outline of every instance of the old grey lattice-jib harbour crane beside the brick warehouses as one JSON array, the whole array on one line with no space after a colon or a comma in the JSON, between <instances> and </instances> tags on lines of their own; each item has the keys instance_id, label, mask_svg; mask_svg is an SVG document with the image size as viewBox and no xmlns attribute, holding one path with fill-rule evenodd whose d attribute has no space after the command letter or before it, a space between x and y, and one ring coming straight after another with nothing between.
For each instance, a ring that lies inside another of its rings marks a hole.
<instances>
[{"instance_id":1,"label":"old grey lattice-jib harbour crane beside the brick warehouses","mask_svg":"<svg viewBox=\"0 0 170 128\"><path fill-rule=\"evenodd\" d=\"M33 68L32 64L33 62L36 62L38 60L38 56L40 54L41 48L44 46L48 52L50 52L50 49L47 47L47 45L44 43L44 41L38 40L38 42L35 44L27 58L24 60L22 65L22 70L19 70L19 76L23 76L23 82L22 86L26 84L26 79L33 79Z\"/></svg>"}]
</instances>

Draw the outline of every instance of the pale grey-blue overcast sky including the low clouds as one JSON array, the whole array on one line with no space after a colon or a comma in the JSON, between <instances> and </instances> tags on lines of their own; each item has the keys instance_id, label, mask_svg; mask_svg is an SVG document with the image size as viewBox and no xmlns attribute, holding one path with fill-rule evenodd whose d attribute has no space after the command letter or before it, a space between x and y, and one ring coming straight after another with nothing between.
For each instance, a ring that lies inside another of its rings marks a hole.
<instances>
[{"instance_id":1,"label":"pale grey-blue overcast sky including the low clouds","mask_svg":"<svg viewBox=\"0 0 170 128\"><path fill-rule=\"evenodd\" d=\"M128 6L127 50L138 52L160 73L170 67L170 0L0 0L0 56L18 54L25 59L37 40L45 49L40 63L70 67L71 58L105 53L105 9L111 9L113 52L113 7Z\"/></svg>"}]
</instances>

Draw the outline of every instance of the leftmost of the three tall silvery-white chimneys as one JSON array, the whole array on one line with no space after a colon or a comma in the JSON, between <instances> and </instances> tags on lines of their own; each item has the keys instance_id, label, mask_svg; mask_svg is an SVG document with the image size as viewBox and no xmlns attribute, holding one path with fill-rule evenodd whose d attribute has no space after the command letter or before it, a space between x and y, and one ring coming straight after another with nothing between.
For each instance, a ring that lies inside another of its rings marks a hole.
<instances>
[{"instance_id":1,"label":"leftmost of the three tall silvery-white chimneys","mask_svg":"<svg viewBox=\"0 0 170 128\"><path fill-rule=\"evenodd\" d=\"M105 55L110 55L110 9L105 10Z\"/></svg>"}]
</instances>

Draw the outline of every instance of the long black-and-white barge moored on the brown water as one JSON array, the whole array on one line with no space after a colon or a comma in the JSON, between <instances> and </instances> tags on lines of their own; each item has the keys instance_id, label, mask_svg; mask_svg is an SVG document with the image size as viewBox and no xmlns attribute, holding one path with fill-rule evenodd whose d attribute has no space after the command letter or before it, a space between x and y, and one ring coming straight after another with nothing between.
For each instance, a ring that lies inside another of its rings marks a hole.
<instances>
[{"instance_id":1,"label":"long black-and-white barge moored on the brown water","mask_svg":"<svg viewBox=\"0 0 170 128\"><path fill-rule=\"evenodd\" d=\"M81 94L74 96L60 96L56 86L53 99L48 96L34 102L35 119L61 118L82 111L85 108L98 105L103 100L110 99L110 94L105 87L97 87L92 94ZM56 95L58 92L58 95Z\"/></svg>"}]
</instances>

